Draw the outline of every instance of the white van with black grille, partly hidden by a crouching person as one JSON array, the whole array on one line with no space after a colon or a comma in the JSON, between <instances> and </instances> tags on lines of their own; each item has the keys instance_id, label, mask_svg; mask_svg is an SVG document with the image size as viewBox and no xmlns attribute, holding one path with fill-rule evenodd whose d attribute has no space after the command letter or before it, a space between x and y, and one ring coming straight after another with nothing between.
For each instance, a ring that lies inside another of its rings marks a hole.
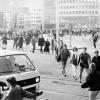
<instances>
[{"instance_id":1,"label":"white van with black grille, partly hidden by a crouching person","mask_svg":"<svg viewBox=\"0 0 100 100\"><path fill-rule=\"evenodd\" d=\"M8 92L6 79L14 76L17 83L32 93L38 92L40 87L40 74L29 57L24 52L0 51L0 93L3 96ZM1 99L0 99L1 100Z\"/></svg>"}]
</instances>

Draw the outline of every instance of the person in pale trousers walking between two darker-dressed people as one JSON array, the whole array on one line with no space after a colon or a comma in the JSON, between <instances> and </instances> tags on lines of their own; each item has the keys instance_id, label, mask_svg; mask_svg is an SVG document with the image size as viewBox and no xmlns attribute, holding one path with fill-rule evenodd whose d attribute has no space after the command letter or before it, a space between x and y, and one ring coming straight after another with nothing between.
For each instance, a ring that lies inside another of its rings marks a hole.
<instances>
[{"instance_id":1,"label":"person in pale trousers walking between two darker-dressed people","mask_svg":"<svg viewBox=\"0 0 100 100\"><path fill-rule=\"evenodd\" d=\"M73 53L71 56L71 64L72 64L72 70L73 70L73 78L77 80L76 76L76 68L78 66L78 49L76 47L73 48Z\"/></svg>"}]
</instances>

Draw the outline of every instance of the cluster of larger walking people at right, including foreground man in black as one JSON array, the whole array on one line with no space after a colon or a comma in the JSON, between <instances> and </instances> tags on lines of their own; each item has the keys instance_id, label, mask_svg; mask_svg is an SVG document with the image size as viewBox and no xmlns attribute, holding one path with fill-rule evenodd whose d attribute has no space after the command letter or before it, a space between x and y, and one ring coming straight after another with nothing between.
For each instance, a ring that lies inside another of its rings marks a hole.
<instances>
[{"instance_id":1,"label":"cluster of larger walking people at right, including foreground man in black","mask_svg":"<svg viewBox=\"0 0 100 100\"><path fill-rule=\"evenodd\" d=\"M89 100L96 100L96 96L100 92L100 56L99 51L95 50L94 56L87 52L87 48L83 48L82 53L78 53L78 48L74 47L72 52L67 49L67 45L62 40L58 42L55 48L56 60L62 63L62 75L66 75L66 63L68 59L72 65L73 78L78 79L76 73L77 67L80 67L79 82L82 88L89 88ZM83 70L86 70L86 81L82 82Z\"/></svg>"}]
</instances>

